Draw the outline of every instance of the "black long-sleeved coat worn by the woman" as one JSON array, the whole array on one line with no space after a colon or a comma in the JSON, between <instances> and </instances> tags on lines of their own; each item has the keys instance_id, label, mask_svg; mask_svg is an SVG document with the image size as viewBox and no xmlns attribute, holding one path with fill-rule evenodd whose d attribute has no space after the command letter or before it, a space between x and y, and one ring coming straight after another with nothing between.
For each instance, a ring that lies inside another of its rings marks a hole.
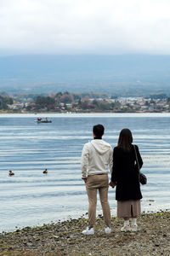
<instances>
[{"instance_id":1,"label":"black long-sleeved coat worn by the woman","mask_svg":"<svg viewBox=\"0 0 170 256\"><path fill-rule=\"evenodd\" d=\"M141 168L143 160L139 154L138 146L135 145L135 148L139 167ZM111 181L116 183L116 200L127 201L142 198L139 184L139 170L133 145L129 152L125 152L122 148L114 148Z\"/></svg>"}]
</instances>

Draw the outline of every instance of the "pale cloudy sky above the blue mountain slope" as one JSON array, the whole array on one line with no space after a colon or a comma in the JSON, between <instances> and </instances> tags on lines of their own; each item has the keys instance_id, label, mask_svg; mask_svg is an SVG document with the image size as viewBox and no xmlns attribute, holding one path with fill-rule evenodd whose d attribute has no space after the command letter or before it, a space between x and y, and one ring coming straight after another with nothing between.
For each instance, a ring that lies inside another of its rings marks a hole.
<instances>
[{"instance_id":1,"label":"pale cloudy sky above the blue mountain slope","mask_svg":"<svg viewBox=\"0 0 170 256\"><path fill-rule=\"evenodd\" d=\"M170 0L0 0L0 55L170 54Z\"/></svg>"}]
</instances>

